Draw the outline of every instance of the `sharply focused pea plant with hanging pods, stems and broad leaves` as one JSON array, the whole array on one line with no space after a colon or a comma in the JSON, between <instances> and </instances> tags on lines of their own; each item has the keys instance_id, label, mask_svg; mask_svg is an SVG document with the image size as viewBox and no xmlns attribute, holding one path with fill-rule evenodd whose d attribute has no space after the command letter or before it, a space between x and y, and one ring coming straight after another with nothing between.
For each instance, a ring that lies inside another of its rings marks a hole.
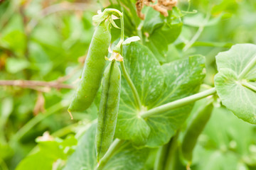
<instances>
[{"instance_id":1,"label":"sharply focused pea plant with hanging pods, stems and broad leaves","mask_svg":"<svg viewBox=\"0 0 256 170\"><path fill-rule=\"evenodd\" d=\"M96 96L102 77L101 70L104 69L104 64L98 60L105 59L107 46L110 45L110 38L109 36L105 38L104 33L110 35L107 30L110 23L116 26L110 15L112 13L118 13L121 20L121 39L113 48L113 54L110 57L112 62L105 69L96 137L96 125L92 125L85 133L85 139L78 146L78 150L68 160L65 169L72 169L72 167L78 167L78 169L81 167L84 169L91 167L95 169L142 169L149 148L161 147L169 143L171 139L171 147L174 147L176 140L174 137L178 135L178 129L186 120L193 102L201 98L207 98L207 101L188 125L181 145L180 154L187 161L187 169L190 169L193 148L210 118L217 95L223 105L238 118L255 123L253 101L256 101L256 77L254 75L256 45L233 45L230 50L220 52L216 56L218 74L214 79L215 87L198 92L206 74L203 56L195 55L183 60L159 64L148 47L139 42L133 42L138 40L137 37L127 38L124 41L123 13L111 8L95 16L101 23L97 26L92 38L80 85L73 98L73 103L77 106L71 103L70 107L74 110L76 108L85 110L88 108L87 101L90 100L90 106ZM108 21L111 22L108 23ZM102 24L105 24L103 33L98 30ZM99 44L95 36L100 37ZM124 60L119 60L120 57L117 56L124 56ZM115 60L120 61L122 68L121 88L121 74ZM120 98L119 91L121 91ZM112 142L113 138L115 138L114 142ZM83 157L82 162L78 159L81 152L87 152L87 157ZM155 169L178 169L176 162L166 162L163 167L161 159L171 159L176 155L175 152L169 153L170 158L166 158L162 152L166 151L160 149L155 158L159 160L156 162ZM95 153L97 153L97 159L92 161ZM127 158L129 158L129 163L122 162L122 159ZM90 163L89 160L91 160ZM81 164L83 162L87 164Z\"/></svg>"}]
</instances>

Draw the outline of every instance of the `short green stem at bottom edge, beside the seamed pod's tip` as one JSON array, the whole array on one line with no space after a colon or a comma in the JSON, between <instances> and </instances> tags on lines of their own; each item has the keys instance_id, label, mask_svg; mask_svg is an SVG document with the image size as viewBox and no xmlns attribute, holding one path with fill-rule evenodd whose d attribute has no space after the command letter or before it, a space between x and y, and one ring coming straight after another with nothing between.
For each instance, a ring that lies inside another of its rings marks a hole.
<instances>
[{"instance_id":1,"label":"short green stem at bottom edge, beside the seamed pod's tip","mask_svg":"<svg viewBox=\"0 0 256 170\"><path fill-rule=\"evenodd\" d=\"M107 150L107 153L100 159L100 164L97 166L97 170L103 169L110 158L117 152L119 147L124 143L124 140L115 139L110 145L110 148Z\"/></svg>"}]
</instances>

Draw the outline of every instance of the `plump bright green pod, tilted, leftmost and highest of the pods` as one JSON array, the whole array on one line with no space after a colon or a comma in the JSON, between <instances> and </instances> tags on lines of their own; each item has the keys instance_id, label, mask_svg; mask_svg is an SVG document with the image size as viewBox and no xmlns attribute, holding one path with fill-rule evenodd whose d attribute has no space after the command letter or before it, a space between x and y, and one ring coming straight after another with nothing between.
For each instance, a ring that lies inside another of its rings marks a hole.
<instances>
[{"instance_id":1,"label":"plump bright green pod, tilted, leftmost and highest of the pods","mask_svg":"<svg viewBox=\"0 0 256 170\"><path fill-rule=\"evenodd\" d=\"M102 80L110 40L110 22L102 21L92 36L82 77L68 108L69 112L85 111L94 101Z\"/></svg>"}]
</instances>

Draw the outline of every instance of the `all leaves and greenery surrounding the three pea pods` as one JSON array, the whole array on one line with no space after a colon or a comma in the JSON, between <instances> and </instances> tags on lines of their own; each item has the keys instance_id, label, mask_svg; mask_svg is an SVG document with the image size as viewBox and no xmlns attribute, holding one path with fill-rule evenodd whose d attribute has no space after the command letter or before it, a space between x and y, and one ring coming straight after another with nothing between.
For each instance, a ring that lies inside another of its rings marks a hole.
<instances>
[{"instance_id":1,"label":"all leaves and greenery surrounding the three pea pods","mask_svg":"<svg viewBox=\"0 0 256 170\"><path fill-rule=\"evenodd\" d=\"M256 168L255 1L178 1L167 17L144 6L144 21L135 3L0 1L0 169ZM97 165L101 89L74 120L67 109L100 8L123 12L126 41L115 140ZM187 162L184 133L211 95L215 108Z\"/></svg>"}]
</instances>

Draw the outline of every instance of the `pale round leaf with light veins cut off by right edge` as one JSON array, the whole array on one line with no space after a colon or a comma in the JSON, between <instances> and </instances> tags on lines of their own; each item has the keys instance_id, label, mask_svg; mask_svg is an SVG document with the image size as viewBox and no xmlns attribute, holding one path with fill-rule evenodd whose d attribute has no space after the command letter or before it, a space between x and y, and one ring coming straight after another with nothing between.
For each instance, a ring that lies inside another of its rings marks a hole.
<instances>
[{"instance_id":1,"label":"pale round leaf with light veins cut off by right edge","mask_svg":"<svg viewBox=\"0 0 256 170\"><path fill-rule=\"evenodd\" d=\"M253 90L256 89L255 60L256 45L233 45L230 50L220 52L216 56L219 72L214 79L223 105L238 118L253 124L256 124L256 93ZM250 64L252 68L249 72L241 74Z\"/></svg>"}]
</instances>

